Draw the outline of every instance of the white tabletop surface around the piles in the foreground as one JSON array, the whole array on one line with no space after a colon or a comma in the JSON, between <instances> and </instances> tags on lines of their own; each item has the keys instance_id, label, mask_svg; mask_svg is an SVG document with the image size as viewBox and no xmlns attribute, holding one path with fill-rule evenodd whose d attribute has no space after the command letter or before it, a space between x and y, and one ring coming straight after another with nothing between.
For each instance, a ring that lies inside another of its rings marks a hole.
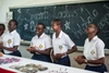
<instances>
[{"instance_id":1,"label":"white tabletop surface around the piles in the foreground","mask_svg":"<svg viewBox=\"0 0 109 73\"><path fill-rule=\"evenodd\" d=\"M3 54L3 57L0 57L0 60L8 59L8 58L9 59L14 58L14 59L17 59L20 61L11 62L11 63L9 62L9 63L5 63L5 64L1 63L0 68L5 69L5 70L10 70L10 71L14 71L14 72L17 72L17 73L22 73L22 72L14 70L14 69L11 69L9 66L11 66L11 65L25 65L25 64L28 64L28 63L35 63L35 64L41 64L43 66L48 68L48 70L38 71L37 73L96 73L96 72L82 70L82 69L64 66L64 65L59 65L59 64L26 59L26 58L20 58L20 57L14 57L14 56L7 56L7 54Z\"/></svg>"}]
</instances>

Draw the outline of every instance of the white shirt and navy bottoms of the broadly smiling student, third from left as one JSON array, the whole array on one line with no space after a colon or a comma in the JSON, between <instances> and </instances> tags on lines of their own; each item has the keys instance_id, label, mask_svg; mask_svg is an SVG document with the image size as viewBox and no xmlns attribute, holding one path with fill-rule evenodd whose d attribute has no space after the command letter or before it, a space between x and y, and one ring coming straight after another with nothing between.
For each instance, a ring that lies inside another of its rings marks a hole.
<instances>
[{"instance_id":1,"label":"white shirt and navy bottoms of the broadly smiling student, third from left","mask_svg":"<svg viewBox=\"0 0 109 73\"><path fill-rule=\"evenodd\" d=\"M51 48L51 38L46 35L45 33L41 34L41 36L38 38L36 35L32 38L31 46L36 47L37 50L46 50L48 48ZM35 52L32 57L34 60L40 60L46 62L51 62L50 56L41 54L38 52Z\"/></svg>"}]
</instances>

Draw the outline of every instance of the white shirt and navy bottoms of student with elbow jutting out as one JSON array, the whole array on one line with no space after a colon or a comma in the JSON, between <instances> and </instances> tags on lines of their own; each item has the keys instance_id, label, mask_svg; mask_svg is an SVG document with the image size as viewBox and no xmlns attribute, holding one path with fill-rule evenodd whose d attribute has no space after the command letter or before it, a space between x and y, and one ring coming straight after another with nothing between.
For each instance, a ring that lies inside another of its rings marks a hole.
<instances>
[{"instance_id":1,"label":"white shirt and navy bottoms of student with elbow jutting out","mask_svg":"<svg viewBox=\"0 0 109 73\"><path fill-rule=\"evenodd\" d=\"M72 49L72 47L75 46L75 44L71 40L69 35L63 33L62 31L59 34L59 37L56 38L56 33L52 35L52 47L53 47L53 54L57 53L64 53L69 49ZM57 64L68 65L70 66L70 58L69 56L63 56L61 59L59 59Z\"/></svg>"}]
</instances>

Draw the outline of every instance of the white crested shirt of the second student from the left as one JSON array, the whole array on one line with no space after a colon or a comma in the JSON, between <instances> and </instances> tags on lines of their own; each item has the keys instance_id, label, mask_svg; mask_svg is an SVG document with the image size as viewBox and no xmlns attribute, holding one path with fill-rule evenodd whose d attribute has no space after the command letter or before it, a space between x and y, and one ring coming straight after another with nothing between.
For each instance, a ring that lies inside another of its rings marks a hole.
<instances>
[{"instance_id":1,"label":"white crested shirt of the second student from the left","mask_svg":"<svg viewBox=\"0 0 109 73\"><path fill-rule=\"evenodd\" d=\"M14 46L20 46L21 42L21 37L19 35L19 33L14 29L13 32L8 32L3 39L3 46L8 47L8 48L13 48ZM4 53L12 53L13 51L9 51L3 49Z\"/></svg>"}]
</instances>

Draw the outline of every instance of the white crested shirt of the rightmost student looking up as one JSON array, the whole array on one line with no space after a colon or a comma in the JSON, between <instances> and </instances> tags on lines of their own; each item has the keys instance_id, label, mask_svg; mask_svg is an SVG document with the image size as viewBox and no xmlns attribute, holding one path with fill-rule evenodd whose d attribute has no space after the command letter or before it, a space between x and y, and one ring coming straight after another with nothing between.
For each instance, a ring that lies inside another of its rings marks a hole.
<instances>
[{"instance_id":1,"label":"white crested shirt of the rightmost student looking up","mask_svg":"<svg viewBox=\"0 0 109 73\"><path fill-rule=\"evenodd\" d=\"M104 41L97 36L95 36L90 41L86 38L83 54L87 60L98 60L105 57L104 48Z\"/></svg>"}]
</instances>

